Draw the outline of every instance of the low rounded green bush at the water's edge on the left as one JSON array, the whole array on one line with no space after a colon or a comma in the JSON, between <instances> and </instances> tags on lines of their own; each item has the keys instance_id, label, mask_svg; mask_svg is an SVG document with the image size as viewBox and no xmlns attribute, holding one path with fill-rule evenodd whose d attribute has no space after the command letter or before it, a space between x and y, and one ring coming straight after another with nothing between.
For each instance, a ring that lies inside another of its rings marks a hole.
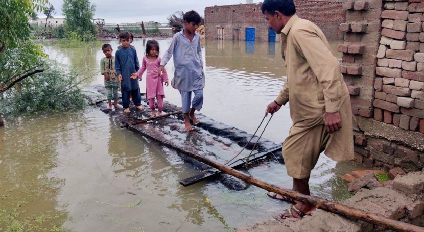
<instances>
[{"instance_id":1,"label":"low rounded green bush at the water's edge on the left","mask_svg":"<svg viewBox=\"0 0 424 232\"><path fill-rule=\"evenodd\" d=\"M16 88L3 93L0 108L4 113L34 113L78 110L85 107L85 96L78 86L79 74L68 71L56 61L46 61L44 72L37 73Z\"/></svg>"}]
</instances>

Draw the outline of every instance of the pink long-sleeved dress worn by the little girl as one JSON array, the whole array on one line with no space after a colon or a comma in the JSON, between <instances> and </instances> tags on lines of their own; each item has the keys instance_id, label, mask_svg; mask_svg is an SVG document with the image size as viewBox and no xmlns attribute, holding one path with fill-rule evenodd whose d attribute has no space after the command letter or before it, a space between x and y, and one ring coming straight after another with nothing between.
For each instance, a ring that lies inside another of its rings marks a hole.
<instances>
[{"instance_id":1,"label":"pink long-sleeved dress worn by the little girl","mask_svg":"<svg viewBox=\"0 0 424 232\"><path fill-rule=\"evenodd\" d=\"M165 69L163 69L163 75L159 76L157 71L159 70L160 62L162 59L160 57L156 58L154 61L150 61L146 56L143 57L142 67L137 71L137 76L142 76L144 71L146 71L146 98L154 99L156 96L161 96L165 98L165 91L163 90L163 82L168 81L168 74Z\"/></svg>"}]
</instances>

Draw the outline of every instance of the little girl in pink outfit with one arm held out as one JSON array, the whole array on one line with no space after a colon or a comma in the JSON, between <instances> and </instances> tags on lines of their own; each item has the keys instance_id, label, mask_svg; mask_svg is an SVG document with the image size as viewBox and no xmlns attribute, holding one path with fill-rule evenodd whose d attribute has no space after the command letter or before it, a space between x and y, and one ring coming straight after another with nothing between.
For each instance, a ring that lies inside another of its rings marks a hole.
<instances>
[{"instance_id":1,"label":"little girl in pink outfit with one arm held out","mask_svg":"<svg viewBox=\"0 0 424 232\"><path fill-rule=\"evenodd\" d=\"M167 71L163 70L163 75L161 76L158 74L161 61L162 59L159 57L159 43L156 40L149 40L146 43L146 53L143 57L142 67L137 73L131 74L131 78L138 76L138 79L141 81L142 75L146 71L146 99L149 100L149 107L153 111L150 117L156 116L155 97L157 98L159 115L162 115L163 98L165 98L163 82L168 86Z\"/></svg>"}]
</instances>

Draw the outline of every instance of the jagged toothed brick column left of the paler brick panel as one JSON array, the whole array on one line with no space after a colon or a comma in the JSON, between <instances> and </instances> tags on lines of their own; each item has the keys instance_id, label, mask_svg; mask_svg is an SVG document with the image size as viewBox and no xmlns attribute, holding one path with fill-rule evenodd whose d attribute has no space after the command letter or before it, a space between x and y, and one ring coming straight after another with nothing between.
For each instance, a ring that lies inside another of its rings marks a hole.
<instances>
[{"instance_id":1,"label":"jagged toothed brick column left of the paler brick panel","mask_svg":"<svg viewBox=\"0 0 424 232\"><path fill-rule=\"evenodd\" d=\"M345 33L341 71L351 95L352 112L367 118L373 113L377 44L380 38L381 0L343 3L346 22L339 29Z\"/></svg>"}]
</instances>

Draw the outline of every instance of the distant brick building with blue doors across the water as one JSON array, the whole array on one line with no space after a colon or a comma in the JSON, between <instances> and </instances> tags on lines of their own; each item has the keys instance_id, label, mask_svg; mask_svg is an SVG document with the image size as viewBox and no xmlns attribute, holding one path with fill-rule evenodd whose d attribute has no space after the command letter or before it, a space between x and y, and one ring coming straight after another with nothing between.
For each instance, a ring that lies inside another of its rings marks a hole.
<instances>
[{"instance_id":1,"label":"distant brick building with blue doors across the water","mask_svg":"<svg viewBox=\"0 0 424 232\"><path fill-rule=\"evenodd\" d=\"M317 24L328 40L343 39L338 29L345 21L342 1L296 0L299 17ZM261 11L262 2L205 8L206 39L279 41Z\"/></svg>"}]
</instances>

